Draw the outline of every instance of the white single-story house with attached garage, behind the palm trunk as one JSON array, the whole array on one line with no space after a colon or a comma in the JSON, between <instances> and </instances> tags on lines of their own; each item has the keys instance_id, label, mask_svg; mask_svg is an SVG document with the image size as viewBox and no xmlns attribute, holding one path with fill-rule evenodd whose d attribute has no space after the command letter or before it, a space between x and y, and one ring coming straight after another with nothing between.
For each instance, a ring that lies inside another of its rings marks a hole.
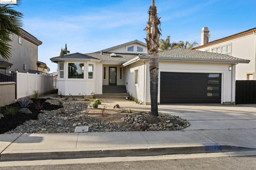
<instances>
[{"instance_id":1,"label":"white single-story house with attached garage, behind the palm trunk","mask_svg":"<svg viewBox=\"0 0 256 170\"><path fill-rule=\"evenodd\" d=\"M149 104L146 53L146 44L134 40L95 53L53 57L51 61L58 63L59 94L129 92ZM159 52L158 102L234 103L236 64L249 62L227 54L183 48Z\"/></svg>"}]
</instances>

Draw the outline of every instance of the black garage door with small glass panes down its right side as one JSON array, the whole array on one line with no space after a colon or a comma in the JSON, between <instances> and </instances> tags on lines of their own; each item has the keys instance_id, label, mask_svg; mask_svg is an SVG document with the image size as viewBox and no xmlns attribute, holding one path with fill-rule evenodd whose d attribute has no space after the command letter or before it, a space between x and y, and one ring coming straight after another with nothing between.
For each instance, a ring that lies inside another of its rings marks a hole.
<instances>
[{"instance_id":1,"label":"black garage door with small glass panes down its right side","mask_svg":"<svg viewBox=\"0 0 256 170\"><path fill-rule=\"evenodd\" d=\"M161 72L160 103L221 103L221 74Z\"/></svg>"}]
</instances>

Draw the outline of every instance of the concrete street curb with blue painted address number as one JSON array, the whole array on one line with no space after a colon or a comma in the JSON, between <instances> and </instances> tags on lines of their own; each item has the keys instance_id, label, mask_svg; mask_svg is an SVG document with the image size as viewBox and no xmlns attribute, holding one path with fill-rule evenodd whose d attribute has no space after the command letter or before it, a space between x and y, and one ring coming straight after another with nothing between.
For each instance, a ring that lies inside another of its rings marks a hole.
<instances>
[{"instance_id":1,"label":"concrete street curb with blue painted address number","mask_svg":"<svg viewBox=\"0 0 256 170\"><path fill-rule=\"evenodd\" d=\"M219 145L209 143L201 146L182 147L150 147L136 149L98 149L98 150L61 150L61 151L38 151L38 152L2 152L0 162L18 160L45 160L45 159L77 159L97 157L125 157L125 156L156 156L175 154L202 154L212 152L255 150L255 148Z\"/></svg>"}]
</instances>

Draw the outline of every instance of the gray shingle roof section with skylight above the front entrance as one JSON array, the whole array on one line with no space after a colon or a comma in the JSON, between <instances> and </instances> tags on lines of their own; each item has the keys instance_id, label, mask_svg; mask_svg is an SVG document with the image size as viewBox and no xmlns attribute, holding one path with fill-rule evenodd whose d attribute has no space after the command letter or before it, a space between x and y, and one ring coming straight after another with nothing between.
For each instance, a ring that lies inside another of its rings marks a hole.
<instances>
[{"instance_id":1,"label":"gray shingle roof section with skylight above the front entrance","mask_svg":"<svg viewBox=\"0 0 256 170\"><path fill-rule=\"evenodd\" d=\"M115 54L117 55L116 57L111 57L110 53L103 53L102 55L100 53L88 53L85 55L98 58L103 62L117 62L121 64L129 60L132 60L132 58L137 57L139 55L139 54L123 54L123 53L115 53Z\"/></svg>"}]
</instances>

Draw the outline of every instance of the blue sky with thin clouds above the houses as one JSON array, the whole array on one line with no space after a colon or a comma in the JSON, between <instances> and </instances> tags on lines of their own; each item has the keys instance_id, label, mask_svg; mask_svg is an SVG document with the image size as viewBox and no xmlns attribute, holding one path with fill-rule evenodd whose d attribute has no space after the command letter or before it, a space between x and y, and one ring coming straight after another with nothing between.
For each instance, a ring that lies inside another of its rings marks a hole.
<instances>
[{"instance_id":1,"label":"blue sky with thin clouds above the houses","mask_svg":"<svg viewBox=\"0 0 256 170\"><path fill-rule=\"evenodd\" d=\"M90 53L134 39L144 41L150 0L22 0L23 28L43 41L38 60L56 71L49 58L67 43L71 53ZM219 39L256 27L256 1L156 0L162 38L200 43L202 27Z\"/></svg>"}]
</instances>

